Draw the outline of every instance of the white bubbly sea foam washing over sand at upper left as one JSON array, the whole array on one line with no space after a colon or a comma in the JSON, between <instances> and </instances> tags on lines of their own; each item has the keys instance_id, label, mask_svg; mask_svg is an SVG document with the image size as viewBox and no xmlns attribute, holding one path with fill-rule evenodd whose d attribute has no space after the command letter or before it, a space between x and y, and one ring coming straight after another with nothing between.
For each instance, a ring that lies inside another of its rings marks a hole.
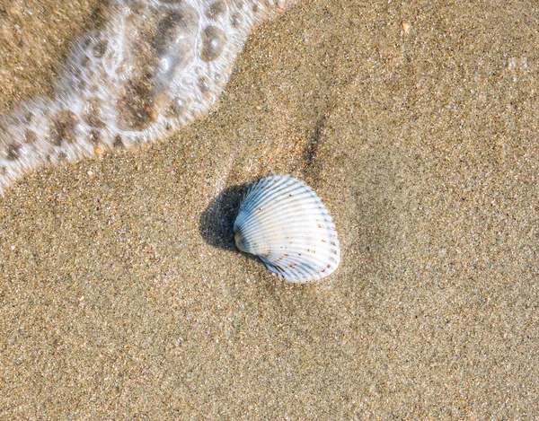
<instances>
[{"instance_id":1,"label":"white bubbly sea foam washing over sand at upper left","mask_svg":"<svg viewBox=\"0 0 539 421\"><path fill-rule=\"evenodd\" d=\"M293 0L112 0L52 98L0 116L0 194L41 165L172 134L205 115L249 32Z\"/></svg>"}]
</instances>

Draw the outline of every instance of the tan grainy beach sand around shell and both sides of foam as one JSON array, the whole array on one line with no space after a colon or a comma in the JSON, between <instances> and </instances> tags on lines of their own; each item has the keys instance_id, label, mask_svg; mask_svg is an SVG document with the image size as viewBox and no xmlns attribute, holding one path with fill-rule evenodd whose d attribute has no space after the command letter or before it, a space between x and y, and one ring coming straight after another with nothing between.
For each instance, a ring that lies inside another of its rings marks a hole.
<instances>
[{"instance_id":1,"label":"tan grainy beach sand around shell and both sides of foam","mask_svg":"<svg viewBox=\"0 0 539 421\"><path fill-rule=\"evenodd\" d=\"M3 0L1 110L98 3ZM536 419L537 28L532 0L304 1L208 118L17 183L0 418ZM335 219L322 282L231 246L238 186L275 172Z\"/></svg>"}]
</instances>

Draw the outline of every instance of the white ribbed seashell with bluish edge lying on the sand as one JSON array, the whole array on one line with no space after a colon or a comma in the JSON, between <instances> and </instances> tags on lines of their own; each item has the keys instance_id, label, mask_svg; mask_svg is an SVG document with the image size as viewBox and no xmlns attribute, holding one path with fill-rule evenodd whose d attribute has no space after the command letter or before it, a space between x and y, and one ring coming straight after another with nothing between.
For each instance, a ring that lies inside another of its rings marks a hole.
<instances>
[{"instance_id":1,"label":"white ribbed seashell with bluish edge lying on the sand","mask_svg":"<svg viewBox=\"0 0 539 421\"><path fill-rule=\"evenodd\" d=\"M289 176L265 177L247 189L234 241L288 282L322 279L340 263L335 224L322 200Z\"/></svg>"}]
</instances>

